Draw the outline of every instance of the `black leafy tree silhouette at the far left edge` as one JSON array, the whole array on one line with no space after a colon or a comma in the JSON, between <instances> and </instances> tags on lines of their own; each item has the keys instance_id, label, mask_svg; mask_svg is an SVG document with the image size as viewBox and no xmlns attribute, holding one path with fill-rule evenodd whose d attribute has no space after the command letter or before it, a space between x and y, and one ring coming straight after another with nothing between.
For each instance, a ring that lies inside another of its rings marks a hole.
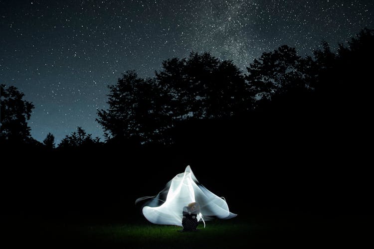
<instances>
[{"instance_id":1,"label":"black leafy tree silhouette at the far left edge","mask_svg":"<svg viewBox=\"0 0 374 249\"><path fill-rule=\"evenodd\" d=\"M11 142L31 141L30 119L32 103L22 100L24 94L16 87L0 85L0 139Z\"/></svg>"}]
</instances>

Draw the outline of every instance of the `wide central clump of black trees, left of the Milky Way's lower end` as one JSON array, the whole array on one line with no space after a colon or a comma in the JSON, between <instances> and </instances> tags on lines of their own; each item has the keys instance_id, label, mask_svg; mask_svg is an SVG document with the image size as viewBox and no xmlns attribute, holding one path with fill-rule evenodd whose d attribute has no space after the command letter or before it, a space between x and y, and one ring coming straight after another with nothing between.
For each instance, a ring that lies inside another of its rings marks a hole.
<instances>
[{"instance_id":1,"label":"wide central clump of black trees, left of the Milky Way's lower end","mask_svg":"<svg viewBox=\"0 0 374 249\"><path fill-rule=\"evenodd\" d=\"M191 52L164 61L153 79L126 72L109 86L109 109L98 111L97 121L115 138L169 144L180 121L225 119L251 109L246 87L231 61Z\"/></svg>"}]
</instances>

